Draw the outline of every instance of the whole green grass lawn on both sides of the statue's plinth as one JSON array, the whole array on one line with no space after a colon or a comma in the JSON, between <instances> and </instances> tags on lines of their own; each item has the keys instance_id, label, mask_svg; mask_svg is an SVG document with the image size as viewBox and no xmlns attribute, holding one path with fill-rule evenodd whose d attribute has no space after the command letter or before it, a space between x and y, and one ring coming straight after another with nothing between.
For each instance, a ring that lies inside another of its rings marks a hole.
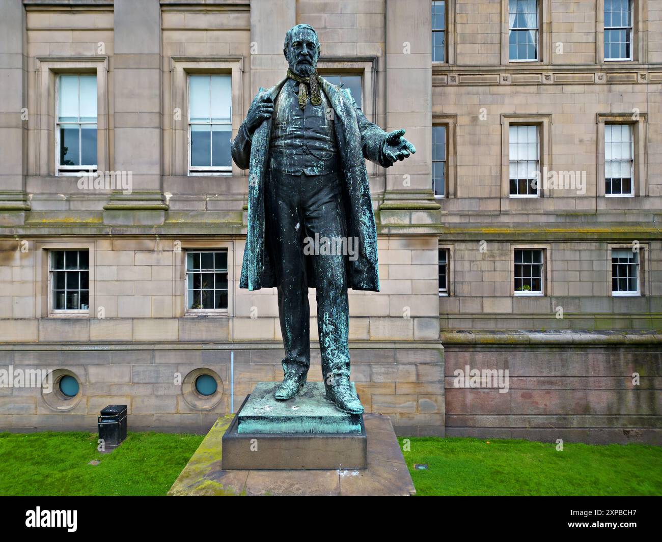
<instances>
[{"instance_id":1,"label":"whole green grass lawn on both sides of the statue's plinth","mask_svg":"<svg viewBox=\"0 0 662 542\"><path fill-rule=\"evenodd\" d=\"M129 433L104 455L93 433L0 433L0 495L165 495L202 439ZM662 495L662 447L409 441L404 459L418 495ZM101 463L88 465L93 459Z\"/></svg>"}]
</instances>

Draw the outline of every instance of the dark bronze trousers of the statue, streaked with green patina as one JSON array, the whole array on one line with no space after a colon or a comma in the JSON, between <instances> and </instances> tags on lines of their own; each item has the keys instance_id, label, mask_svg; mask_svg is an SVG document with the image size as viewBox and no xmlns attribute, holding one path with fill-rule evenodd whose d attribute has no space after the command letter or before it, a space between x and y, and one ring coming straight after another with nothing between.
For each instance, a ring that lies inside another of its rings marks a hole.
<instances>
[{"instance_id":1,"label":"dark bronze trousers of the statue, streaked with green patina","mask_svg":"<svg viewBox=\"0 0 662 542\"><path fill-rule=\"evenodd\" d=\"M275 169L267 177L265 249L272 251L278 284L283 372L303 375L310 368L310 266L306 261L312 258L322 378L328 387L337 377L350 376L346 254L322 248L325 238L331 248L335 240L346 240L341 181L338 173L288 175Z\"/></svg>"}]
</instances>

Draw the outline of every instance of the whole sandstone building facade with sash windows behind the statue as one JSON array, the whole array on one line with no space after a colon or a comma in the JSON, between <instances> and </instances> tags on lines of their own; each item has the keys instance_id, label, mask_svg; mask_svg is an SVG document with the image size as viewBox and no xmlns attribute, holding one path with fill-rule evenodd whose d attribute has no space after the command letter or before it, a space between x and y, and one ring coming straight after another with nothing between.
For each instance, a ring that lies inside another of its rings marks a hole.
<instances>
[{"instance_id":1,"label":"whole sandstone building facade with sash windows behind the statue","mask_svg":"<svg viewBox=\"0 0 662 542\"><path fill-rule=\"evenodd\" d=\"M320 74L417 149L369 164L366 410L402 435L660 443L662 0L607 4L1 0L0 367L54 388L0 386L0 428L120 403L130 428L204 431L280 377L275 291L238 288L226 146L308 23Z\"/></svg>"}]
</instances>

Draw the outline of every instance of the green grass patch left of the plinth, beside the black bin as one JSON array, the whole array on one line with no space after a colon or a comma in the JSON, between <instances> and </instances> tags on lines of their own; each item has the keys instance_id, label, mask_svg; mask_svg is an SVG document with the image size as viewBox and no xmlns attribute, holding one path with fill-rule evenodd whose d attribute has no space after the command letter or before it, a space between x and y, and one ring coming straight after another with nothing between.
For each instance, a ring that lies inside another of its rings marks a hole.
<instances>
[{"instance_id":1,"label":"green grass patch left of the plinth, beside the black bin","mask_svg":"<svg viewBox=\"0 0 662 542\"><path fill-rule=\"evenodd\" d=\"M94 433L0 433L0 495L165 495L203 438L129 433L103 454Z\"/></svg>"}]
</instances>

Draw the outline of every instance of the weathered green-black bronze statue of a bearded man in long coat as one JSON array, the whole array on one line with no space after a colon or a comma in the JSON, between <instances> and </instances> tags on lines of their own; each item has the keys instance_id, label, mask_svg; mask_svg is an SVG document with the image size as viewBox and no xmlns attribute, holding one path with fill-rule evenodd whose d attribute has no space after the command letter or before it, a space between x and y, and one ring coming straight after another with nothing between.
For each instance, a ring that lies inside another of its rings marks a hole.
<instances>
[{"instance_id":1,"label":"weathered green-black bronze statue of a bearded man in long coat","mask_svg":"<svg viewBox=\"0 0 662 542\"><path fill-rule=\"evenodd\" d=\"M283 52L287 77L260 89L232 142L234 162L249 169L240 287L278 290L285 347L279 400L294 397L306 383L308 288L317 289L326 398L361 414L350 386L347 289L379 291L365 158L390 167L416 149L402 138L404 130L389 134L372 124L348 89L317 74L320 44L312 26L291 28Z\"/></svg>"}]
</instances>

